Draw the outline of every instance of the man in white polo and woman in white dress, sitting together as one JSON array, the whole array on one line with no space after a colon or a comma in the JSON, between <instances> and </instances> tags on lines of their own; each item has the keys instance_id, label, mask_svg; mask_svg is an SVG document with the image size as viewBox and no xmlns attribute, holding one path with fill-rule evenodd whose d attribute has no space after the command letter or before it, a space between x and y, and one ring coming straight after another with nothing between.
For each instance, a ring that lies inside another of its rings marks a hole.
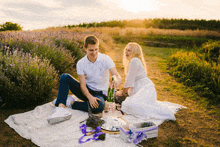
<instances>
[{"instance_id":1,"label":"man in white polo and woman in white dress, sitting together","mask_svg":"<svg viewBox=\"0 0 220 147\"><path fill-rule=\"evenodd\" d=\"M72 114L66 107L86 112L89 109L92 112L102 112L107 98L109 72L112 76L116 76L115 88L122 83L113 60L99 53L99 40L96 36L90 35L85 38L84 49L86 56L80 59L76 66L79 81L69 74L62 74L60 77L58 96L53 101L57 107L53 115L47 119L49 124L69 119ZM126 74L125 85L123 91L116 95L128 94L129 97L122 102L122 111L147 117L158 114L163 117L165 114L175 119L168 108L156 103L156 90L153 82L147 78L146 64L139 44L127 44L124 49L123 64ZM83 102L68 97L69 90Z\"/></svg>"}]
</instances>

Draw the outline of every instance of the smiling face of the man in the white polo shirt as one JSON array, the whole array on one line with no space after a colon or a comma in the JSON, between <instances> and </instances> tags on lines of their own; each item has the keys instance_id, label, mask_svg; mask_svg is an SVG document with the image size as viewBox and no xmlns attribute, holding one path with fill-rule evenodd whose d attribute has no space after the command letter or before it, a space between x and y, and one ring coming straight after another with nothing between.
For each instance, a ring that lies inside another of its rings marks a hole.
<instances>
[{"instance_id":1,"label":"smiling face of the man in the white polo shirt","mask_svg":"<svg viewBox=\"0 0 220 147\"><path fill-rule=\"evenodd\" d=\"M86 54L91 62L95 62L98 57L99 44L88 44L86 48Z\"/></svg>"}]
</instances>

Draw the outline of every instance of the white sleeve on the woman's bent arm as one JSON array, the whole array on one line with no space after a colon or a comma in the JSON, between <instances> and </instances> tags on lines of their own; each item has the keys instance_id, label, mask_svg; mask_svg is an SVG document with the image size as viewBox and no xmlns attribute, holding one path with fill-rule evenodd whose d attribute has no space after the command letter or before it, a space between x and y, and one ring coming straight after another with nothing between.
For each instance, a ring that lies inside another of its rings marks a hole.
<instances>
[{"instance_id":1,"label":"white sleeve on the woman's bent arm","mask_svg":"<svg viewBox=\"0 0 220 147\"><path fill-rule=\"evenodd\" d=\"M138 59L133 58L129 64L128 74L125 79L124 88L134 87L135 77L137 76L139 71Z\"/></svg>"}]
</instances>

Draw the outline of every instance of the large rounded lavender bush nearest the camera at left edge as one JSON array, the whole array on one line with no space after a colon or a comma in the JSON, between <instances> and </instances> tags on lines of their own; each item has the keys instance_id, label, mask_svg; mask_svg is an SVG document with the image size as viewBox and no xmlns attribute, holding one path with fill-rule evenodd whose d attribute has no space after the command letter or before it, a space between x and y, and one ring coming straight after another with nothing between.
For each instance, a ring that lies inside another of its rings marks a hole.
<instances>
[{"instance_id":1,"label":"large rounded lavender bush nearest the camera at left edge","mask_svg":"<svg viewBox=\"0 0 220 147\"><path fill-rule=\"evenodd\" d=\"M0 52L0 94L8 107L37 106L51 99L58 73L49 60L22 51Z\"/></svg>"}]
</instances>

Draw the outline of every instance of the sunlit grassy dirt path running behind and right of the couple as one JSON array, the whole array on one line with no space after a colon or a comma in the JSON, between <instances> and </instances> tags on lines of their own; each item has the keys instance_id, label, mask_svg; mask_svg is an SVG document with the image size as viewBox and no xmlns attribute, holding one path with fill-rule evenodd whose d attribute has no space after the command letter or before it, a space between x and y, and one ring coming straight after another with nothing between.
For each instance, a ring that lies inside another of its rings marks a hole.
<instances>
[{"instance_id":1,"label":"sunlit grassy dirt path running behind and right of the couple","mask_svg":"<svg viewBox=\"0 0 220 147\"><path fill-rule=\"evenodd\" d=\"M122 49L116 48L106 54L114 60L124 83ZM145 59L148 77L155 83L158 100L178 103L186 106L187 109L178 111L175 115L176 121L168 121L160 125L157 138L143 141L141 145L220 146L220 116L213 112L212 107L206 106L206 103L201 105L199 100L196 100L199 97L192 89L178 83L176 79L163 71L165 60L156 56L146 56Z\"/></svg>"}]
</instances>

